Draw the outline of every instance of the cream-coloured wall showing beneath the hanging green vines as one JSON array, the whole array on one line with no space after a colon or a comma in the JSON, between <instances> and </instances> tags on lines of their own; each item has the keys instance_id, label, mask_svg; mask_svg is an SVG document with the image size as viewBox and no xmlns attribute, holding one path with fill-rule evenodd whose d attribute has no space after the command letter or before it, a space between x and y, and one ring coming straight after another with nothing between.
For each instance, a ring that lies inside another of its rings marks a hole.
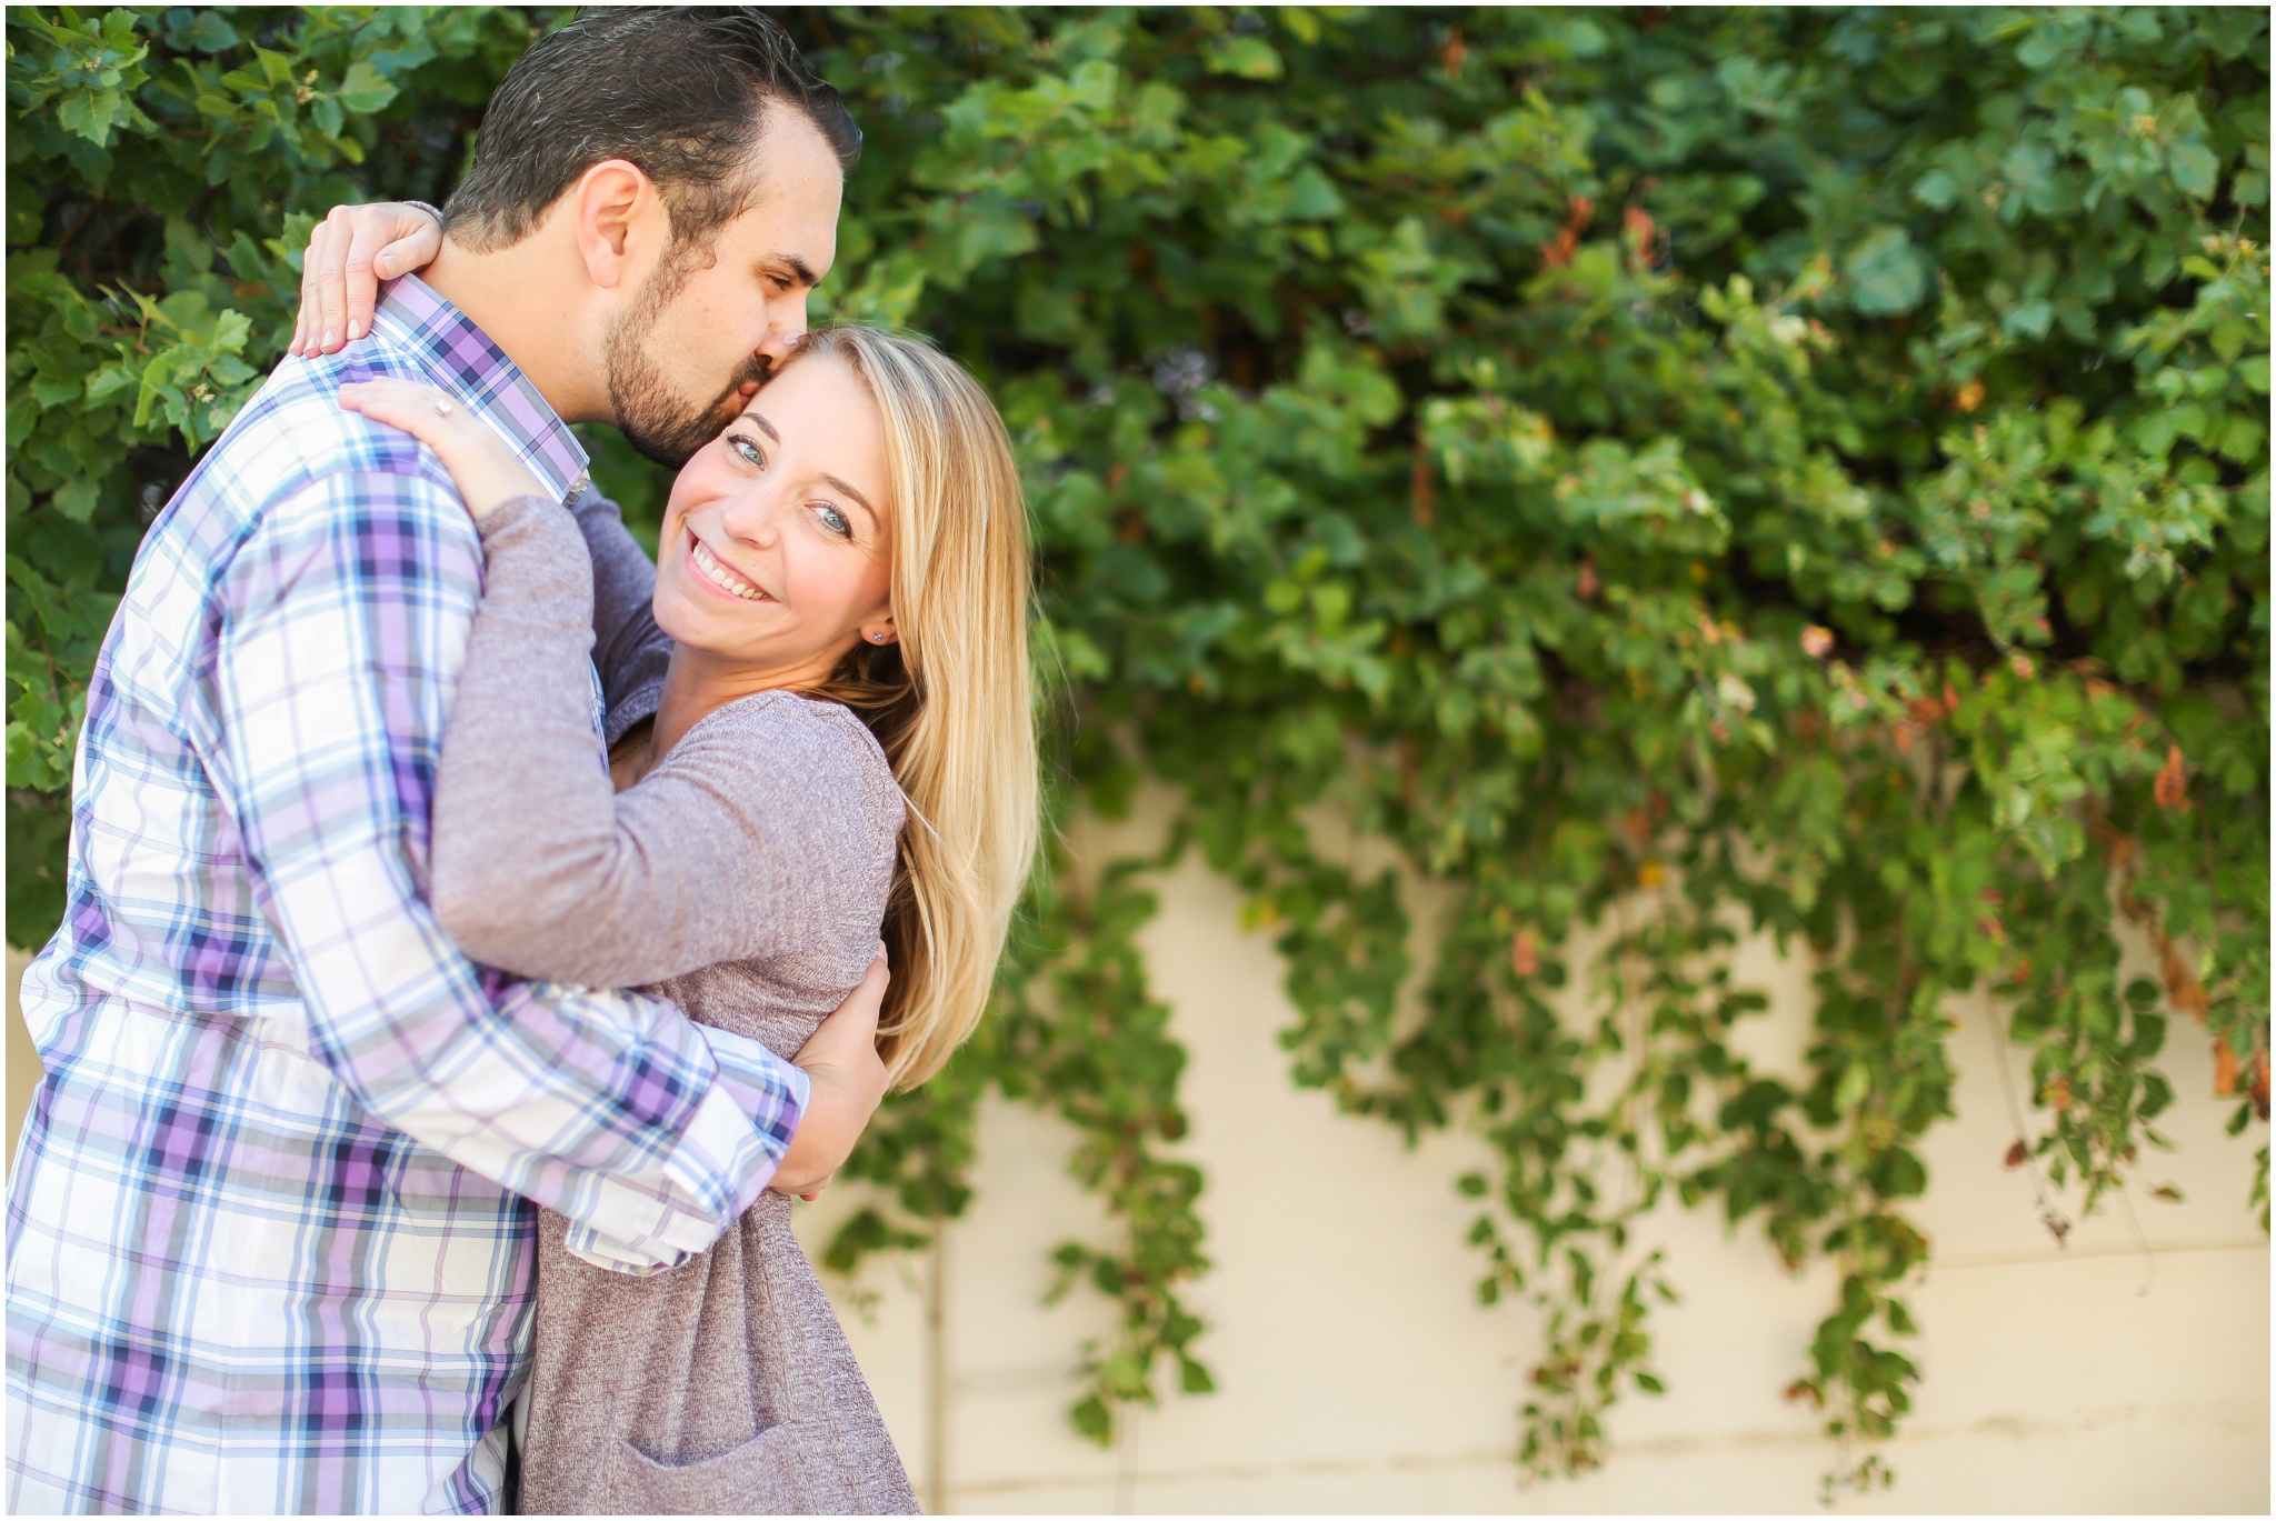
<instances>
[{"instance_id":1,"label":"cream-coloured wall showing beneath the hanging green vines","mask_svg":"<svg viewBox=\"0 0 2276 1521\"><path fill-rule=\"evenodd\" d=\"M1083 1293L1045 1309L1047 1250L1111 1241L1065 1175L1072 1134L1029 1109L983 1116L979 1195L940 1257L876 1264L847 1305L853 1346L929 1501L960 1512L1814 1512L1830 1448L1780 1398L1803 1368L1830 1284L1780 1273L1759 1236L1671 1211L1659 1236L1684 1293L1659 1312L1661 1400L1614 1412L1607 1469L1516 1480L1509 1453L1534 1348L1523 1307L1479 1309L1452 1177L1466 1136L1404 1150L1286 1079L1290 1018L1268 934L1238 929L1234 893L1188 865L1161 883L1145 931L1161 997L1193 1052L1186 1154L1209 1175L1215 1271L1190 1291L1220 1391L1170 1396L1104 1453L1065 1423L1077 1346L1104 1330ZM9 993L20 961L9 959ZM1750 1034L1798 1063L1800 975L1766 945L1746 970L1773 990ZM2069 1250L2037 1225L2030 1186L2001 1168L2012 1132L1982 1009L1955 1009L1960 1118L1928 1141L1919 1218L1935 1268L1914 1291L1925 1371L1889 1453L1898 1487L1841 1510L2267 1512L2269 1255L2244 1209L2249 1145L2221 1136L2203 1038L2176 1025L2167 1070L2178 1143L2149 1202L2080 1223ZM9 1020L9 1138L27 1057ZM2260 1132L2265 1138L2265 1132ZM819 1241L851 1193L801 1209ZM942 1293L933 1298L935 1268ZM929 1312L938 1312L938 1325ZM935 1432L945 1434L935 1441Z\"/></svg>"}]
</instances>

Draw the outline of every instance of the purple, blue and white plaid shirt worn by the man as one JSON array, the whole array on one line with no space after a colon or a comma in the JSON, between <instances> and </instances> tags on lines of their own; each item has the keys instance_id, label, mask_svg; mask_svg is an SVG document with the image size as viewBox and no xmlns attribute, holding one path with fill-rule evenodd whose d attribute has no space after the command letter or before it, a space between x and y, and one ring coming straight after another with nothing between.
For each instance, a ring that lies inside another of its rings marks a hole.
<instances>
[{"instance_id":1,"label":"purple, blue and white plaid shirt worn by the man","mask_svg":"<svg viewBox=\"0 0 2276 1521\"><path fill-rule=\"evenodd\" d=\"M533 1200L594 1261L671 1266L806 1102L756 1041L483 972L437 929L480 542L432 453L332 398L382 373L460 396L562 494L585 469L405 278L369 339L287 360L143 540L89 685L64 927L23 979L48 1072L9 1191L11 1512L494 1510Z\"/></svg>"}]
</instances>

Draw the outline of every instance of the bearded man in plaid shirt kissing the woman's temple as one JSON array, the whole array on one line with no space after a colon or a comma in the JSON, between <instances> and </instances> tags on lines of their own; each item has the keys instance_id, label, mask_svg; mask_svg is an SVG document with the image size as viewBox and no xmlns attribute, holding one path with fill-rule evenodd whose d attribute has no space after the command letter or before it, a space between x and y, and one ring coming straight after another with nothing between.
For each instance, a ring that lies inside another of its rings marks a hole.
<instances>
[{"instance_id":1,"label":"bearded man in plaid shirt kissing the woman's temple","mask_svg":"<svg viewBox=\"0 0 2276 1521\"><path fill-rule=\"evenodd\" d=\"M683 458L803 330L858 141L756 11L578 18L501 87L428 280L287 360L152 524L23 981L9 1510L496 1510L533 1205L658 1271L860 1134L876 968L790 1066L437 931L480 551L432 455L332 401L437 385L564 499L571 421Z\"/></svg>"}]
</instances>

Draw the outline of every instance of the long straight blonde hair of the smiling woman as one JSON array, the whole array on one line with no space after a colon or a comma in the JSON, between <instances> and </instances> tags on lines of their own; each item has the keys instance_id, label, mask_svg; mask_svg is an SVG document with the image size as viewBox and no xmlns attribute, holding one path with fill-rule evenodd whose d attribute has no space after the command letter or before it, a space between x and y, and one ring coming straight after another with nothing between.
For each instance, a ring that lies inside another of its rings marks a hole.
<instances>
[{"instance_id":1,"label":"long straight blonde hair of the smiling woman","mask_svg":"<svg viewBox=\"0 0 2276 1521\"><path fill-rule=\"evenodd\" d=\"M1011 437L956 360L876 328L817 328L869 389L892 490L897 644L856 644L815 697L853 708L908 799L879 1054L894 1088L947 1063L988 1004L1036 856L1026 501Z\"/></svg>"}]
</instances>

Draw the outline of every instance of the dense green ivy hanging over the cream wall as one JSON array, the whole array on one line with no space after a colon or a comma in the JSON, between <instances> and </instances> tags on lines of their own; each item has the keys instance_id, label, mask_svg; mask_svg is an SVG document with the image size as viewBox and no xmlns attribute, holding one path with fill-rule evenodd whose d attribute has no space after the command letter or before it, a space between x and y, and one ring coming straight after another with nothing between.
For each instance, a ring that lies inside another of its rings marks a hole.
<instances>
[{"instance_id":1,"label":"dense green ivy hanging over the cream wall","mask_svg":"<svg viewBox=\"0 0 2276 1521\"><path fill-rule=\"evenodd\" d=\"M11 940L141 524L289 335L307 219L439 198L551 20L9 11ZM1957 993L2051 1230L2164 1145L2176 1016L2267 1120L2265 11L785 20L869 141L826 314L938 337L1022 451L1052 822L1179 797L1165 854L1038 872L831 1266L963 1209L983 1093L1045 1104L1120 1223L1056 1255L1120 1307L1077 1425L1209 1389L1133 943L1190 849L1277 929L1295 1082L1493 1143L1461 1189L1479 1296L1543 1314L1541 1473L1659 1391L1675 1198L1837 1268L1789 1393L1830 1482L1887 1482ZM1445 888L1422 940L1329 820ZM1800 1086L1734 1038L1757 931L1814 968Z\"/></svg>"}]
</instances>

